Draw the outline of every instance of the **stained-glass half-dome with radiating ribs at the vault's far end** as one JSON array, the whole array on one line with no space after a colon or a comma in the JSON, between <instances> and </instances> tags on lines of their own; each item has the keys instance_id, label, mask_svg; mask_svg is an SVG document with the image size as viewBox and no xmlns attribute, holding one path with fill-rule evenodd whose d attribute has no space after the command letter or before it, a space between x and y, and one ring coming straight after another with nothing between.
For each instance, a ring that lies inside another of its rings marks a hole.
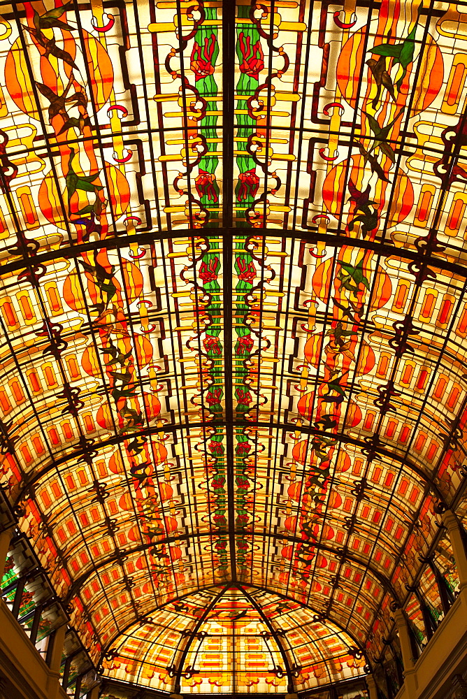
<instances>
[{"instance_id":1,"label":"stained-glass half-dome with radiating ribs at the vault's far end","mask_svg":"<svg viewBox=\"0 0 467 699\"><path fill-rule=\"evenodd\" d=\"M175 614L155 610L113 640L103 667L175 693L206 693L213 682L221 693L283 693L357 676L366 663L345 631L264 590L228 584L170 605Z\"/></svg>"}]
</instances>

